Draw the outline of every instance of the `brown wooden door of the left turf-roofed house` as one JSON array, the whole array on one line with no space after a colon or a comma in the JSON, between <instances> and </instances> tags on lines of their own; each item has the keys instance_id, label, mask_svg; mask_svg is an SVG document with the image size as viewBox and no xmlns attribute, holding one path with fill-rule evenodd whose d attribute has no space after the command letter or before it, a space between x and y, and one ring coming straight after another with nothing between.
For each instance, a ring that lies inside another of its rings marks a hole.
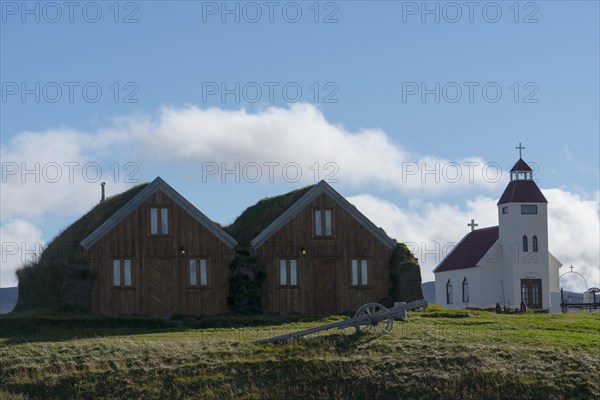
<instances>
[{"instance_id":1,"label":"brown wooden door of the left turf-roofed house","mask_svg":"<svg viewBox=\"0 0 600 400\"><path fill-rule=\"evenodd\" d=\"M173 314L173 260L149 258L146 262L145 272L148 314Z\"/></svg>"}]
</instances>

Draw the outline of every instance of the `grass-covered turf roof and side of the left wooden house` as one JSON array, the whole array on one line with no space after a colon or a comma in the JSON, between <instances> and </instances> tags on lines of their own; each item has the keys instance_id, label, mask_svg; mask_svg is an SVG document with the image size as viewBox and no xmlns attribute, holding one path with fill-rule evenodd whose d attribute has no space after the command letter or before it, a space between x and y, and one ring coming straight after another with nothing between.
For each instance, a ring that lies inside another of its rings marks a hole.
<instances>
[{"instance_id":1,"label":"grass-covered turf roof and side of the left wooden house","mask_svg":"<svg viewBox=\"0 0 600 400\"><path fill-rule=\"evenodd\" d=\"M146 185L137 185L126 192L108 197L56 236L44 248L38 260L17 270L19 300L15 310L60 306L65 267L88 264L79 243Z\"/></svg>"}]
</instances>

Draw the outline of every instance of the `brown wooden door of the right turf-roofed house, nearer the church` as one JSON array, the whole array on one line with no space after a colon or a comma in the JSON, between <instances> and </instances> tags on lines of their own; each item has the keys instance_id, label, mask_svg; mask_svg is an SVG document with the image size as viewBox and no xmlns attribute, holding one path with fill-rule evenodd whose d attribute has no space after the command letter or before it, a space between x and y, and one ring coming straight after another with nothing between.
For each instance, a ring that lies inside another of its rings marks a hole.
<instances>
[{"instance_id":1,"label":"brown wooden door of the right turf-roofed house, nearer the church","mask_svg":"<svg viewBox=\"0 0 600 400\"><path fill-rule=\"evenodd\" d=\"M313 263L313 313L335 314L337 312L336 260L317 258Z\"/></svg>"}]
</instances>

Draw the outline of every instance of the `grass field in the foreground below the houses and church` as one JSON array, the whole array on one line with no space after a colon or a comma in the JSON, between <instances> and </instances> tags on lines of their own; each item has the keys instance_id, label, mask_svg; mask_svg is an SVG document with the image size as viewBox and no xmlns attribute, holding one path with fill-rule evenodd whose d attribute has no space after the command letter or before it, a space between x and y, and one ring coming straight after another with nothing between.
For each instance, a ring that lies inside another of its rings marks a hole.
<instances>
[{"instance_id":1,"label":"grass field in the foreground below the houses and church","mask_svg":"<svg viewBox=\"0 0 600 400\"><path fill-rule=\"evenodd\" d=\"M254 343L342 318L11 314L0 318L0 398L600 397L600 313L430 306L383 336Z\"/></svg>"}]
</instances>

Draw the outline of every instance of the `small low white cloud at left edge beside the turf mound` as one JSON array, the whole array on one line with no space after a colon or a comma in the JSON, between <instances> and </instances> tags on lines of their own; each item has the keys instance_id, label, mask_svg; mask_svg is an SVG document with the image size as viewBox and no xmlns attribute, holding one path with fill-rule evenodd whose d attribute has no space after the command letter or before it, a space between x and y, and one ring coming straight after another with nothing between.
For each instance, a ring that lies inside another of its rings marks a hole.
<instances>
[{"instance_id":1,"label":"small low white cloud at left edge beside the turf mound","mask_svg":"<svg viewBox=\"0 0 600 400\"><path fill-rule=\"evenodd\" d=\"M16 286L17 268L41 253L42 231L30 222L13 219L0 226L0 238L0 287Z\"/></svg>"}]
</instances>

